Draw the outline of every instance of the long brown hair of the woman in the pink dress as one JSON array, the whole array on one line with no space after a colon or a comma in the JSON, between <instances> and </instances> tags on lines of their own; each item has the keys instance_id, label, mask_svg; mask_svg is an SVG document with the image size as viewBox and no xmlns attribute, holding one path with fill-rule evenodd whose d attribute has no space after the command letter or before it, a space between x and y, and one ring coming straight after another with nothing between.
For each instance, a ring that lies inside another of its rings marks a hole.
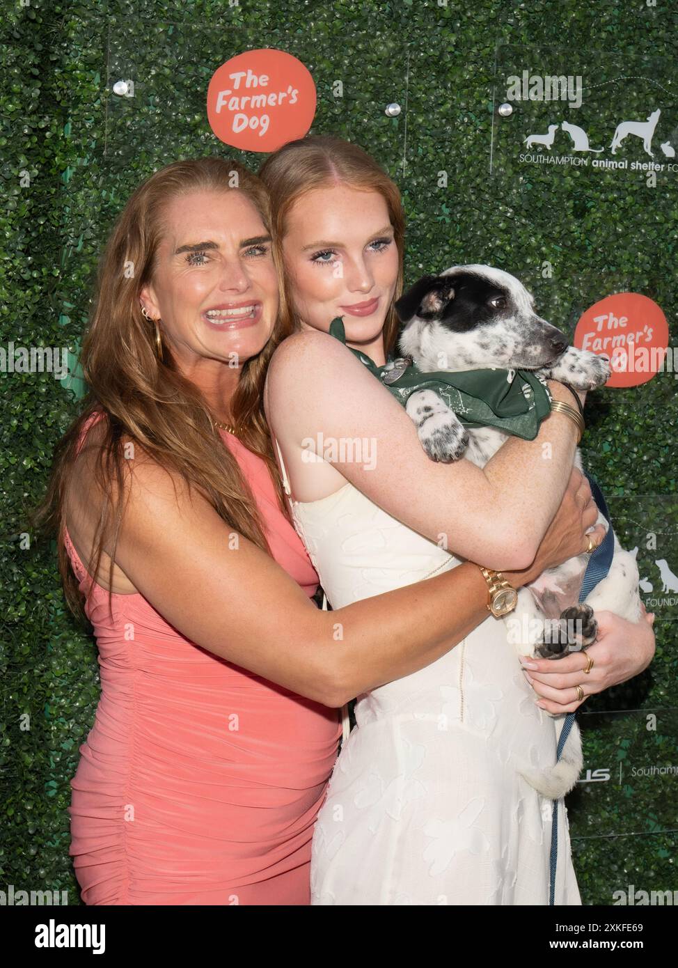
<instances>
[{"instance_id":1,"label":"long brown hair of the woman in the pink dress","mask_svg":"<svg viewBox=\"0 0 678 968\"><path fill-rule=\"evenodd\" d=\"M162 362L159 360L155 324L141 314L140 291L153 281L166 206L175 197L199 190L242 192L271 231L269 197L262 182L238 162L221 158L175 162L155 172L136 189L112 229L100 261L97 295L80 357L89 393L79 416L55 448L44 500L29 513L37 531L57 537L66 600L80 619L85 617L84 601L64 546L64 503L80 432L95 411L103 411L107 419L103 420L104 436L95 469L105 499L94 540L93 576L99 573L103 546L108 542L108 584L112 584L123 508L120 498L113 497L111 482L121 496L123 437L138 443L163 468L178 471L231 529L271 554L250 487L219 437L214 414L198 387L182 376L166 343ZM275 252L273 256L277 261ZM279 315L269 342L243 364L230 408L240 439L271 470L280 510L290 520L262 401L268 362L288 335L285 325L286 319ZM109 608L110 601L109 592Z\"/></svg>"}]
</instances>

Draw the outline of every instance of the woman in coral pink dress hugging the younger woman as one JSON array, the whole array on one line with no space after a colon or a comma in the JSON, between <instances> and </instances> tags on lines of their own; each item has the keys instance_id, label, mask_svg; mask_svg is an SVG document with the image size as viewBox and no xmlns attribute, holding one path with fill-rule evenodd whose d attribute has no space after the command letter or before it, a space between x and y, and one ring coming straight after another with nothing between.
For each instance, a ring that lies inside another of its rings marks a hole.
<instances>
[{"instance_id":1,"label":"woman in coral pink dress hugging the younger woman","mask_svg":"<svg viewBox=\"0 0 678 968\"><path fill-rule=\"evenodd\" d=\"M137 189L103 255L90 397L36 522L99 647L72 781L87 904L308 904L338 708L486 616L470 562L336 612L311 601L260 392L287 335L269 231L244 167L179 162ZM507 578L572 557L595 517L575 473L536 559L514 556Z\"/></svg>"}]
</instances>

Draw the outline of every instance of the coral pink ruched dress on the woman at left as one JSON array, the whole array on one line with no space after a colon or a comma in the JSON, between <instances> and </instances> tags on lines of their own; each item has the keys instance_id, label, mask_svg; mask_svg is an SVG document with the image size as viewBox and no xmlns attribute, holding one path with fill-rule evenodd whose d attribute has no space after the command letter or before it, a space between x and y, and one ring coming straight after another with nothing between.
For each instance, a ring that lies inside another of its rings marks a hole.
<instances>
[{"instance_id":1,"label":"coral pink ruched dress on the woman at left","mask_svg":"<svg viewBox=\"0 0 678 968\"><path fill-rule=\"evenodd\" d=\"M268 468L232 435L221 439L275 560L311 596L317 575ZM85 591L92 580L68 531L64 540ZM86 611L102 695L71 781L70 854L84 902L309 904L339 711L201 649L139 593L113 594L111 620L95 584Z\"/></svg>"}]
</instances>

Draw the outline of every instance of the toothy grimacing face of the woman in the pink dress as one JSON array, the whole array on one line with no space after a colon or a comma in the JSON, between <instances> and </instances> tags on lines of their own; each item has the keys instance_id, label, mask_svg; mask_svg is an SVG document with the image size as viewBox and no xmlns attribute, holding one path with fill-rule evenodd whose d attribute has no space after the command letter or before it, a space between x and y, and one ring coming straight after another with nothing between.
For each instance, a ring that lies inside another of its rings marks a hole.
<instances>
[{"instance_id":1,"label":"toothy grimacing face of the woman in the pink dress","mask_svg":"<svg viewBox=\"0 0 678 968\"><path fill-rule=\"evenodd\" d=\"M278 314L278 275L261 216L237 190L176 197L163 215L153 283L141 302L162 319L163 341L191 378L209 382L228 362L237 372L264 348Z\"/></svg>"}]
</instances>

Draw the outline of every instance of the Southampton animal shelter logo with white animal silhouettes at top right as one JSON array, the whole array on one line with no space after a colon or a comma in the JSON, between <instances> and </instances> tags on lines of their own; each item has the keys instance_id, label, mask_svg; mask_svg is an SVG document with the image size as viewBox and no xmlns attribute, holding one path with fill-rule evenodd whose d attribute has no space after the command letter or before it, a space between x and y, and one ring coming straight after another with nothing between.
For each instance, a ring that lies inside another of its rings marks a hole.
<instances>
[{"instance_id":1,"label":"Southampton animal shelter logo with white animal silhouettes at top right","mask_svg":"<svg viewBox=\"0 0 678 968\"><path fill-rule=\"evenodd\" d=\"M640 78L645 79L645 78ZM618 78L622 81L623 78ZM610 107L601 97L604 83L584 77L533 75L523 70L505 76L505 96L513 113L520 102L541 102L544 110L529 118L515 119L519 139L518 161L538 166L576 166L592 171L645 174L648 184L658 174L678 173L678 113L672 104L661 103L663 87L647 78L646 96L639 104L634 92L633 109ZM611 83L611 81L609 82ZM637 80L636 80L637 83ZM575 124L576 111L584 106L587 121Z\"/></svg>"}]
</instances>

